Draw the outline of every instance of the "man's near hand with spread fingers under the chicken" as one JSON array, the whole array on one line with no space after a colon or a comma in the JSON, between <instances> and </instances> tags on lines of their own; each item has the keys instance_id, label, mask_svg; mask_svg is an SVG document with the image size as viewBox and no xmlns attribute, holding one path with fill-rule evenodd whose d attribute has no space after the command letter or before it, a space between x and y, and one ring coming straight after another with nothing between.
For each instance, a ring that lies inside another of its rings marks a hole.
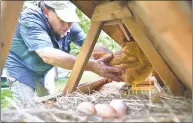
<instances>
[{"instance_id":1,"label":"man's near hand with spread fingers under the chicken","mask_svg":"<svg viewBox=\"0 0 193 123\"><path fill-rule=\"evenodd\" d=\"M95 60L92 66L92 71L102 77L120 82L122 81L122 79L119 76L124 73L124 70L117 67L109 66L108 63L111 61L112 58L113 55L109 54L105 57Z\"/></svg>"}]
</instances>

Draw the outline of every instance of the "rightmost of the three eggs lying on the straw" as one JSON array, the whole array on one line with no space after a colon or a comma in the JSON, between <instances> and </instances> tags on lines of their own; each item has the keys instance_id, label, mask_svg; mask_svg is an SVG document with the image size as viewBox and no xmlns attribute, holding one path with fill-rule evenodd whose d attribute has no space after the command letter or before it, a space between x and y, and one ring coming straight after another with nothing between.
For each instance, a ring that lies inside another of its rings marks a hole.
<instances>
[{"instance_id":1,"label":"rightmost of the three eggs lying on the straw","mask_svg":"<svg viewBox=\"0 0 193 123\"><path fill-rule=\"evenodd\" d=\"M109 105L116 110L118 117L127 114L127 105L122 100L112 100Z\"/></svg>"}]
</instances>

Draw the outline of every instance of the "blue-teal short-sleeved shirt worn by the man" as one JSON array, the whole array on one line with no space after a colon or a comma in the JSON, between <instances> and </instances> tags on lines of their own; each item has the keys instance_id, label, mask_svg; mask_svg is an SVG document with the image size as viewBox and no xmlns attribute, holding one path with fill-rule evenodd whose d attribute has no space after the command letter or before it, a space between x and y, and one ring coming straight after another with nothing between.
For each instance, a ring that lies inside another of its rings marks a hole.
<instances>
[{"instance_id":1,"label":"blue-teal short-sleeved shirt worn by the man","mask_svg":"<svg viewBox=\"0 0 193 123\"><path fill-rule=\"evenodd\" d=\"M45 63L35 52L44 47L59 49L47 18L40 8L28 8L21 12L5 68L18 81L36 88L36 80L44 85L46 73L53 67ZM61 38L64 52L70 52L71 41L82 46L85 34L77 23ZM67 64L67 63L64 63Z\"/></svg>"}]
</instances>

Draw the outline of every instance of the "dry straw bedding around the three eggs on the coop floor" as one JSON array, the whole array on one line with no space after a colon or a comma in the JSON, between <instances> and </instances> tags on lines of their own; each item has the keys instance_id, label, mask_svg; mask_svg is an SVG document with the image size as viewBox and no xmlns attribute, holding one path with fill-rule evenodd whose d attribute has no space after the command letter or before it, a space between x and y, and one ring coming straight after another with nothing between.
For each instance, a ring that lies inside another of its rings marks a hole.
<instances>
[{"instance_id":1,"label":"dry straw bedding around the three eggs on the coop floor","mask_svg":"<svg viewBox=\"0 0 193 123\"><path fill-rule=\"evenodd\" d=\"M185 97L172 96L165 88L165 94L156 91L143 94L123 95L119 92L123 83L112 82L92 94L74 92L56 97L56 102L34 102L29 108L14 105L1 110L4 122L192 122L192 101ZM109 103L122 99L128 113L115 119L104 119L96 115L80 116L76 111L79 103L89 101L93 104Z\"/></svg>"}]
</instances>

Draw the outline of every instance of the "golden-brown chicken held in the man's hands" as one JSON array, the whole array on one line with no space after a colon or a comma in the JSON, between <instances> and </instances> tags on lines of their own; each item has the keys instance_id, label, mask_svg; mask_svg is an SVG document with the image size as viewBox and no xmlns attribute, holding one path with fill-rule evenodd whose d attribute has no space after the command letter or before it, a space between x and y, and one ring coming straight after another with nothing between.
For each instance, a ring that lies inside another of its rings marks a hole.
<instances>
[{"instance_id":1,"label":"golden-brown chicken held in the man's hands","mask_svg":"<svg viewBox=\"0 0 193 123\"><path fill-rule=\"evenodd\" d=\"M92 56L94 59L99 59L109 53L111 51L99 46L95 48ZM125 70L124 74L121 75L121 79L127 84L143 82L153 71L149 60L135 41L126 43L120 51L113 53L110 65Z\"/></svg>"}]
</instances>

